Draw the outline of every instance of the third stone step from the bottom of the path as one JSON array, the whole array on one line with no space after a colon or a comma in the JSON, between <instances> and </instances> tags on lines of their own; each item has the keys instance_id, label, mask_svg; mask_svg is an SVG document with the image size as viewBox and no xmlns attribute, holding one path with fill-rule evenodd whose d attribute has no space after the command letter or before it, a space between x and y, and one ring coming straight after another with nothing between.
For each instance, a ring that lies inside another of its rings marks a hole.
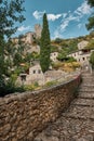
<instances>
[{"instance_id":1,"label":"third stone step from the bottom of the path","mask_svg":"<svg viewBox=\"0 0 94 141\"><path fill-rule=\"evenodd\" d=\"M71 105L94 106L94 99L76 99Z\"/></svg>"}]
</instances>

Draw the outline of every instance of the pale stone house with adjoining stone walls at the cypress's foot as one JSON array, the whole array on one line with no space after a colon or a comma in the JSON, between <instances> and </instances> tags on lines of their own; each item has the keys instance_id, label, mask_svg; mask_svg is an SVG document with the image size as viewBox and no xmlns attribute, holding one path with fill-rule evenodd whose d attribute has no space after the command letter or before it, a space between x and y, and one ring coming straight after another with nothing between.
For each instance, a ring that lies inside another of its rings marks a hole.
<instances>
[{"instance_id":1,"label":"pale stone house with adjoining stone walls at the cypress's foot","mask_svg":"<svg viewBox=\"0 0 94 141\"><path fill-rule=\"evenodd\" d=\"M24 85L31 85L38 82L39 86L42 86L45 85L48 81L56 80L64 76L65 73L63 70L53 70L53 69L50 69L43 74L40 64L37 63L29 68L28 74L21 74L21 76L17 79L17 82Z\"/></svg>"}]
</instances>

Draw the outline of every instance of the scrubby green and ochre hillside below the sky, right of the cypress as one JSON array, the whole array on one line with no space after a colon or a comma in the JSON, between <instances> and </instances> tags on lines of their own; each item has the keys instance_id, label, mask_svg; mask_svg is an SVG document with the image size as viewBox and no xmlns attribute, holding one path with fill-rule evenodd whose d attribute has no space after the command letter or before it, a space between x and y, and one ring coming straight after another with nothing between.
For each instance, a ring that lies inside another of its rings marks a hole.
<instances>
[{"instance_id":1,"label":"scrubby green and ochre hillside below the sky, right of the cypress","mask_svg":"<svg viewBox=\"0 0 94 141\"><path fill-rule=\"evenodd\" d=\"M89 44L85 47L86 49L94 49L94 31L90 33L90 35L78 37L78 38L71 38L71 39L61 39L56 38L55 40L52 40L52 51L58 51L63 50L67 54L77 51L78 50L78 43L81 41L88 41Z\"/></svg>"}]
</instances>

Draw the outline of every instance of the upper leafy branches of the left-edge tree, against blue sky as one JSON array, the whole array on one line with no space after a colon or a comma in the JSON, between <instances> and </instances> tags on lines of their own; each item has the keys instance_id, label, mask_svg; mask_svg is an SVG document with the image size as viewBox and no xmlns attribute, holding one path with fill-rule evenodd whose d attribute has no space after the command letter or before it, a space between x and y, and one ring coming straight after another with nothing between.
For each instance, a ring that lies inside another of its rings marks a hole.
<instances>
[{"instance_id":1,"label":"upper leafy branches of the left-edge tree, against blue sky","mask_svg":"<svg viewBox=\"0 0 94 141\"><path fill-rule=\"evenodd\" d=\"M15 22L22 23L25 18L22 15L24 0L0 0L0 35L10 37L15 33Z\"/></svg>"}]
</instances>

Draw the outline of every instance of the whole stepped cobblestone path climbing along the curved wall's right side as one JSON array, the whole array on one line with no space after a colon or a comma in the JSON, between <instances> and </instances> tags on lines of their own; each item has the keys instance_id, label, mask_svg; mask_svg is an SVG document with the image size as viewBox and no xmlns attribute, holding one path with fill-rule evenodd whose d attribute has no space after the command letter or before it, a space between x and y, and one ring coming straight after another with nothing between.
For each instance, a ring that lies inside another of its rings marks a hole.
<instances>
[{"instance_id":1,"label":"whole stepped cobblestone path climbing along the curved wall's right side","mask_svg":"<svg viewBox=\"0 0 94 141\"><path fill-rule=\"evenodd\" d=\"M94 141L94 76L83 74L79 95L35 141Z\"/></svg>"}]
</instances>

